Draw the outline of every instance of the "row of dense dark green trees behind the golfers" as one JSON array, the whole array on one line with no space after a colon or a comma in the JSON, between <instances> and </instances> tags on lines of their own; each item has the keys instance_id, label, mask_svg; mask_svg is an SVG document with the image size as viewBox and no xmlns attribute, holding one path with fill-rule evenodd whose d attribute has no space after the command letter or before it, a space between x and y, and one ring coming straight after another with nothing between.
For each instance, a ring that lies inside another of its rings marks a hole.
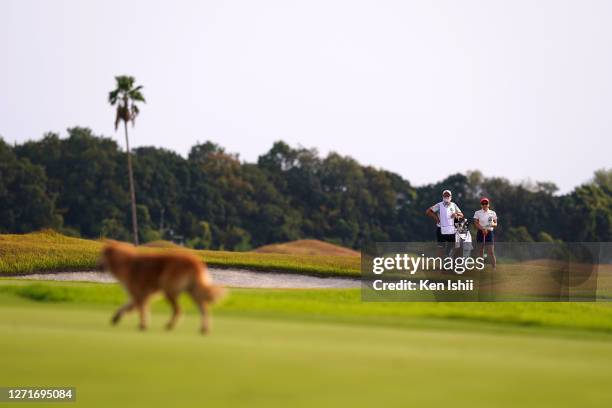
<instances>
[{"instance_id":1,"label":"row of dense dark green trees behind the golfers","mask_svg":"<svg viewBox=\"0 0 612 408\"><path fill-rule=\"evenodd\" d=\"M130 239L126 154L86 128L67 138L10 146L0 139L0 232L55 228L66 234ZM569 194L552 183L511 183L478 172L413 186L398 174L354 159L275 143L257 163L211 142L187 158L172 151L133 151L138 229L197 248L245 250L316 238L358 248L373 241L435 238L425 209L441 191L471 215L486 195L504 241L610 241L612 170Z\"/></svg>"}]
</instances>

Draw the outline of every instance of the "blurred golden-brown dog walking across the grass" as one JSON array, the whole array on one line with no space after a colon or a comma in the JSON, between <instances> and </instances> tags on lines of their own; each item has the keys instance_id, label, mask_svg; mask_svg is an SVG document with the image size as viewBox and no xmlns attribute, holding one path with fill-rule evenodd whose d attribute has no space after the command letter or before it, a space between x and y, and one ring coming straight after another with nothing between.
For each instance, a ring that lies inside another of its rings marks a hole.
<instances>
[{"instance_id":1,"label":"blurred golden-brown dog walking across the grass","mask_svg":"<svg viewBox=\"0 0 612 408\"><path fill-rule=\"evenodd\" d=\"M102 249L101 261L130 296L130 301L114 314L113 324L119 323L126 312L137 309L140 328L146 329L151 297L163 292L172 306L172 317L166 325L170 330L181 314L178 297L181 292L187 292L200 310L202 333L209 331L209 306L220 299L225 290L212 283L206 266L195 255L178 250L143 253L130 244L109 240Z\"/></svg>"}]
</instances>

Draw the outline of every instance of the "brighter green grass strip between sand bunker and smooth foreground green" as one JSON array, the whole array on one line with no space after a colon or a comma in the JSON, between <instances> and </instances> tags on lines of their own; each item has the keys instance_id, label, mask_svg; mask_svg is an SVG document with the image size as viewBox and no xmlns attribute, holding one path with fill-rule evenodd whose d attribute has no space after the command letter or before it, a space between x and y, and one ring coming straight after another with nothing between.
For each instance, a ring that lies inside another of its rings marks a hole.
<instances>
[{"instance_id":1,"label":"brighter green grass strip between sand bunker and smooth foreground green","mask_svg":"<svg viewBox=\"0 0 612 408\"><path fill-rule=\"evenodd\" d=\"M119 285L0 279L0 295L39 304L98 305L110 313L126 301ZM184 310L195 313L190 299ZM162 299L154 310L169 313ZM612 335L611 303L374 303L358 289L231 289L215 314L280 320L328 321L389 327L472 326L486 330L547 328ZM486 327L485 327L486 326ZM561 333L563 334L563 333Z\"/></svg>"}]
</instances>

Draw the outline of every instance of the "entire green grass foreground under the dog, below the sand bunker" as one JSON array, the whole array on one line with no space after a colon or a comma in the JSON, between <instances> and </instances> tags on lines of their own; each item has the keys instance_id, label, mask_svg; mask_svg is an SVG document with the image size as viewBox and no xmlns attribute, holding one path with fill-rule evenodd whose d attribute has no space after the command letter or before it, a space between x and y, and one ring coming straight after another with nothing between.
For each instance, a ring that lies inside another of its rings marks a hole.
<instances>
[{"instance_id":1,"label":"entire green grass foreground under the dog, below the sand bunker","mask_svg":"<svg viewBox=\"0 0 612 408\"><path fill-rule=\"evenodd\" d=\"M192 307L165 332L162 302L147 332L134 315L111 327L124 299L117 285L2 279L0 384L74 386L77 402L65 405L88 407L612 403L605 304L437 307L358 296L233 290L201 336Z\"/></svg>"}]
</instances>

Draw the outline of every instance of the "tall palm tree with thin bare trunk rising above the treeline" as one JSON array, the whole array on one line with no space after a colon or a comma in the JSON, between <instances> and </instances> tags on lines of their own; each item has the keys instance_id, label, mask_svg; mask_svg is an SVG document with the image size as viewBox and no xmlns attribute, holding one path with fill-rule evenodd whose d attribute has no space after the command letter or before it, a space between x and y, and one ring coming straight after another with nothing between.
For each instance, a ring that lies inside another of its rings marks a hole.
<instances>
[{"instance_id":1,"label":"tall palm tree with thin bare trunk rising above the treeline","mask_svg":"<svg viewBox=\"0 0 612 408\"><path fill-rule=\"evenodd\" d=\"M136 102L145 102L140 90L142 86L134 86L136 81L131 76L116 76L117 88L108 95L108 102L117 105L117 116L115 117L115 131L119 128L119 123L123 121L125 129L125 147L128 156L128 176L130 180L130 198L132 200L132 232L134 234L134 244L138 245L138 219L136 218L136 194L134 193L134 174L132 172L132 155L130 154L130 141L128 139L127 124L136 121L136 116L140 113Z\"/></svg>"}]
</instances>

